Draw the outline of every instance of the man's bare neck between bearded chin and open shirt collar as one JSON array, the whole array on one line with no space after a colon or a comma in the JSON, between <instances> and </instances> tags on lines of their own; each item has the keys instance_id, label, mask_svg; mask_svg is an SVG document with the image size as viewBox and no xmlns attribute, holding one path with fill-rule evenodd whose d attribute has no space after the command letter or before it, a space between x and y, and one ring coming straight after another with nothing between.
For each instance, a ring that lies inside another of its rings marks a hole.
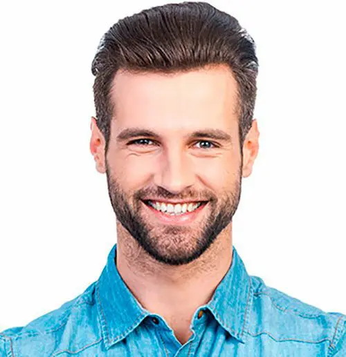
<instances>
[{"instance_id":1,"label":"man's bare neck between bearded chin and open shirt collar","mask_svg":"<svg viewBox=\"0 0 346 357\"><path fill-rule=\"evenodd\" d=\"M194 311L210 301L230 268L232 223L197 260L179 266L154 260L120 223L117 233L116 265L122 280L140 305L161 315L186 340Z\"/></svg>"}]
</instances>

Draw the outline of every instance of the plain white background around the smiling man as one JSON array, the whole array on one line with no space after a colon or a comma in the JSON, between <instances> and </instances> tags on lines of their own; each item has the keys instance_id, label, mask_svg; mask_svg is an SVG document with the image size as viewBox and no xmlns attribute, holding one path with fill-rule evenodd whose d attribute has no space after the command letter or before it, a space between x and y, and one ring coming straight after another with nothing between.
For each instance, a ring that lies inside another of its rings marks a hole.
<instances>
[{"instance_id":1,"label":"plain white background around the smiling man","mask_svg":"<svg viewBox=\"0 0 346 357\"><path fill-rule=\"evenodd\" d=\"M89 153L91 61L118 19L165 1L0 6L0 330L98 279L116 242L106 176ZM343 1L210 1L260 59L260 153L233 242L251 275L325 311L345 303Z\"/></svg>"}]
</instances>

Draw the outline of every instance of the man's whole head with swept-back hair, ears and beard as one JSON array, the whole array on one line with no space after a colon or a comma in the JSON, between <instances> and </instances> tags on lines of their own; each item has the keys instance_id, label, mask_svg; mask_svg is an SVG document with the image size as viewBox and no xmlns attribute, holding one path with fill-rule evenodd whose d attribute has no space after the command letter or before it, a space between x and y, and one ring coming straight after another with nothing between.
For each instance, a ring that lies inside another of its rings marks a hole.
<instances>
[{"instance_id":1,"label":"man's whole head with swept-back hair, ears and beard","mask_svg":"<svg viewBox=\"0 0 346 357\"><path fill-rule=\"evenodd\" d=\"M118 222L158 261L197 259L257 155L253 40L208 3L169 4L112 26L92 70L91 152Z\"/></svg>"}]
</instances>

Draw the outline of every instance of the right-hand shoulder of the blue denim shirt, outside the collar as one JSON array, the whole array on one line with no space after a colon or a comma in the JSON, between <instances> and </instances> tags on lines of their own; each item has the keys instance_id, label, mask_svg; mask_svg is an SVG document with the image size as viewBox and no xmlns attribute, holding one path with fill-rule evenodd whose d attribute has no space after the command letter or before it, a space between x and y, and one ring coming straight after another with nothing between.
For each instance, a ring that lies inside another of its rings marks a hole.
<instances>
[{"instance_id":1,"label":"right-hand shoulder of the blue denim shirt, outside the collar","mask_svg":"<svg viewBox=\"0 0 346 357\"><path fill-rule=\"evenodd\" d=\"M346 316L343 313L322 311L266 286L257 276L251 276L251 283L252 323L248 329L251 336L267 334L277 341L326 342L329 345L329 356L338 352L341 343L345 345Z\"/></svg>"}]
</instances>

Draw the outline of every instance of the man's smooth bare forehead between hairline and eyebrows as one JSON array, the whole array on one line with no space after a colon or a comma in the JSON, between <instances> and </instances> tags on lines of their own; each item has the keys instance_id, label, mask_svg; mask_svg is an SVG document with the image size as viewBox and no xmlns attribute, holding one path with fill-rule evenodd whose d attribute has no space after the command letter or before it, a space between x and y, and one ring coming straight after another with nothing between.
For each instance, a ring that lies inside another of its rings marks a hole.
<instances>
[{"instance_id":1,"label":"man's smooth bare forehead between hairline and eyebrows","mask_svg":"<svg viewBox=\"0 0 346 357\"><path fill-rule=\"evenodd\" d=\"M119 130L125 126L192 130L237 122L237 82L226 65L170 74L119 70L110 99Z\"/></svg>"}]
</instances>

